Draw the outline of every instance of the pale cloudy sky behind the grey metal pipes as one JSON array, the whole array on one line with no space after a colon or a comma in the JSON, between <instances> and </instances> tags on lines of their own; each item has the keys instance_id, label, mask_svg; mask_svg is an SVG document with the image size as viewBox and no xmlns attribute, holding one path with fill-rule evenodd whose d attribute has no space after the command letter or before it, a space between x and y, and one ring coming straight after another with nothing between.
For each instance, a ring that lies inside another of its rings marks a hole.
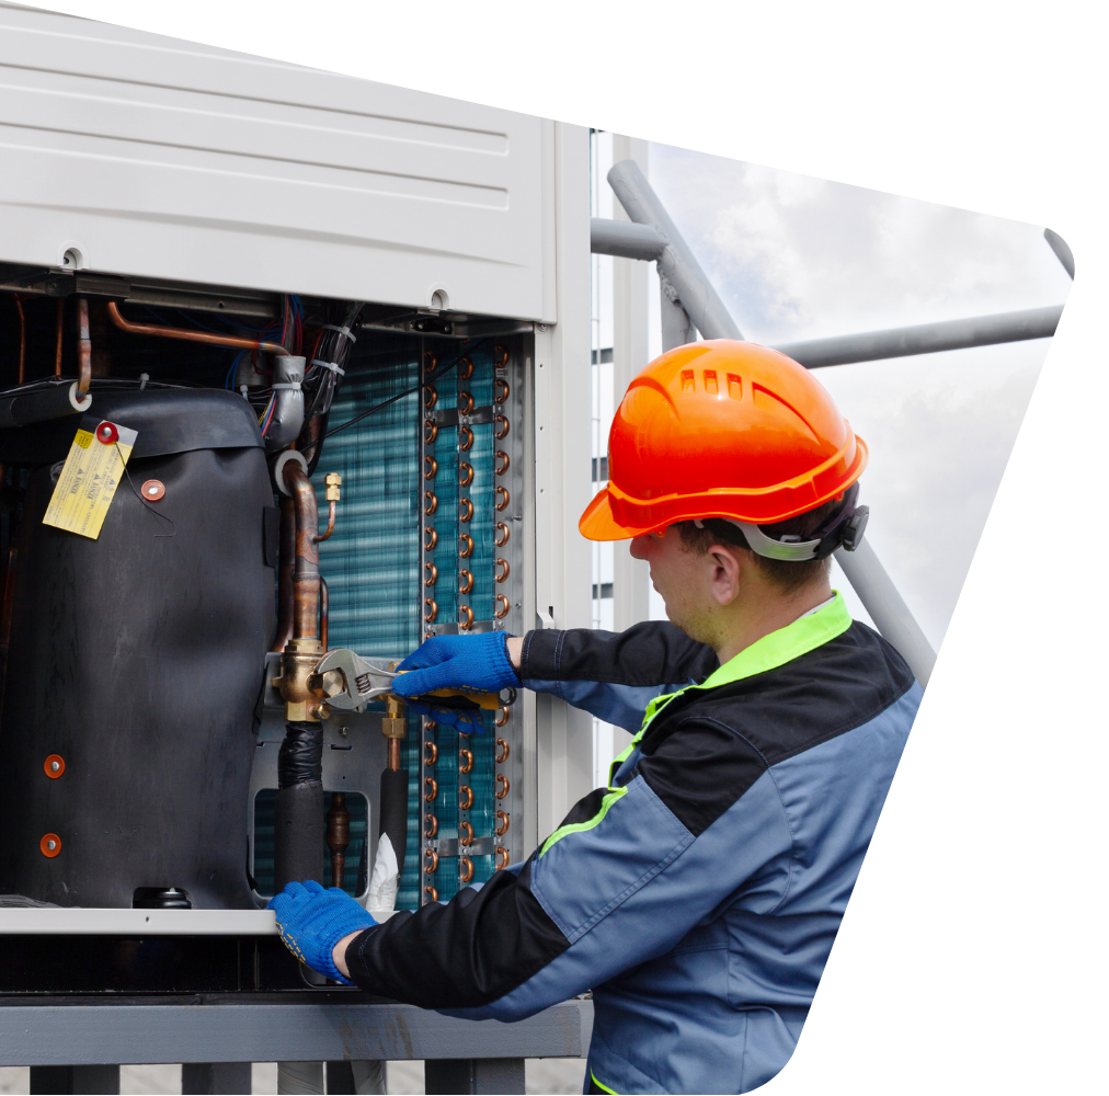
<instances>
[{"instance_id":1,"label":"pale cloudy sky behind the grey metal pipes","mask_svg":"<svg viewBox=\"0 0 1109 1096\"><path fill-rule=\"evenodd\" d=\"M612 215L611 138L594 139L596 213ZM745 337L767 345L1064 302L1041 225L989 211L652 144L649 177ZM611 260L594 263L611 346ZM661 352L651 276L652 354ZM597 345L594 343L594 345ZM820 369L871 464L867 536L938 648L989 516L1049 339ZM602 398L607 439L611 404ZM604 451L604 444L601 450ZM617 546L625 550L625 546ZM601 562L602 570L608 570ZM608 578L603 575L602 578ZM836 568L852 610L868 620ZM652 591L652 617L664 617Z\"/></svg>"}]
</instances>

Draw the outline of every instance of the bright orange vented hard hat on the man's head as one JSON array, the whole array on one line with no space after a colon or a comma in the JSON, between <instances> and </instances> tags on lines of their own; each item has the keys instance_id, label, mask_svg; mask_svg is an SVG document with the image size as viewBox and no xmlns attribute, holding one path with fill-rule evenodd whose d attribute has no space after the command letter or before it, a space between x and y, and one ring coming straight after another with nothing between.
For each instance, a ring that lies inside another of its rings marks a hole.
<instances>
[{"instance_id":1,"label":"bright orange vented hard hat on the man's head","mask_svg":"<svg viewBox=\"0 0 1109 1096\"><path fill-rule=\"evenodd\" d=\"M628 386L609 486L578 527L622 540L695 518L770 525L836 498L865 467L866 444L806 368L754 343L690 343Z\"/></svg>"}]
</instances>

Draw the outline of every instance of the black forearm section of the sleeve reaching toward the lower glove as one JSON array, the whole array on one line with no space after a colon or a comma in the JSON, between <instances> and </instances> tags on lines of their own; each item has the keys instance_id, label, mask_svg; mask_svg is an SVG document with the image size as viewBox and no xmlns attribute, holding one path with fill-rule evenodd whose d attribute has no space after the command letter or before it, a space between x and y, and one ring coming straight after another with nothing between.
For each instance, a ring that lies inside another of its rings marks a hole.
<instances>
[{"instance_id":1,"label":"black forearm section of the sleeve reaching toward the lower glove","mask_svg":"<svg viewBox=\"0 0 1109 1096\"><path fill-rule=\"evenodd\" d=\"M421 1008L472 1008L502 997L569 946L531 893L531 861L446 904L397 913L347 946L363 990Z\"/></svg>"}]
</instances>

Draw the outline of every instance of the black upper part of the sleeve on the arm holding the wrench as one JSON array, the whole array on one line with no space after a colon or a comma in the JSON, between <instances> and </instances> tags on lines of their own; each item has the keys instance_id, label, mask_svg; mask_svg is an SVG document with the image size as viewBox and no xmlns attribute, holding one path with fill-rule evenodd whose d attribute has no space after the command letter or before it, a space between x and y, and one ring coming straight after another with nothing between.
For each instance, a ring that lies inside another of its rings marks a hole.
<instances>
[{"instance_id":1,"label":"black upper part of the sleeve on the arm holding the wrench","mask_svg":"<svg viewBox=\"0 0 1109 1096\"><path fill-rule=\"evenodd\" d=\"M523 640L523 681L604 681L660 686L704 681L720 666L711 647L669 621L648 620L627 631L530 631Z\"/></svg>"}]
</instances>

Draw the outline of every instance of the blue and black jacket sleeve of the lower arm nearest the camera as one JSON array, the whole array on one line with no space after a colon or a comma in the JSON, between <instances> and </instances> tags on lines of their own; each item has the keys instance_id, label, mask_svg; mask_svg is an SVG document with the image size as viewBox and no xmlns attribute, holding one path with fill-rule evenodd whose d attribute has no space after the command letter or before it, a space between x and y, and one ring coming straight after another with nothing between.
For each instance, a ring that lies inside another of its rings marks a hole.
<instances>
[{"instance_id":1,"label":"blue and black jacket sleeve of the lower arm nearest the camera","mask_svg":"<svg viewBox=\"0 0 1109 1096\"><path fill-rule=\"evenodd\" d=\"M426 1008L520 1019L665 954L752 877L772 909L787 877L774 865L791 849L773 782L734 732L692 724L624 787L581 800L518 873L356 937L355 982Z\"/></svg>"}]
</instances>

